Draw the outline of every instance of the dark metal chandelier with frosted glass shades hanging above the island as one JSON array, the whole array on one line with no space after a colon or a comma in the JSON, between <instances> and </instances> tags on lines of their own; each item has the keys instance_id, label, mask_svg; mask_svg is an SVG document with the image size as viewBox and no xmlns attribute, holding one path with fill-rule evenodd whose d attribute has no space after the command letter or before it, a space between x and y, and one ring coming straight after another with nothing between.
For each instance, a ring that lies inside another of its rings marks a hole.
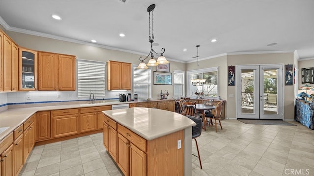
<instances>
[{"instance_id":1,"label":"dark metal chandelier with frosted glass shades hanging above the island","mask_svg":"<svg viewBox=\"0 0 314 176\"><path fill-rule=\"evenodd\" d=\"M146 56L145 59L143 59L143 57L139 57L139 60L141 61L141 63L136 67L138 69L148 69L147 66L157 66L159 64L167 64L169 63L169 61L167 61L167 59L162 55L165 52L165 48L161 49L161 53L157 53L153 50L153 42L154 42L154 8L155 8L155 4L150 5L147 8L147 12L149 12L149 43L151 43L151 51L148 53L148 55ZM151 36L151 12L152 12L152 36ZM156 61L154 59L154 54L158 54L160 55L160 57L158 57L158 60ZM147 64L144 63L144 60L146 60L149 56L151 56L151 59L148 61Z\"/></svg>"}]
</instances>

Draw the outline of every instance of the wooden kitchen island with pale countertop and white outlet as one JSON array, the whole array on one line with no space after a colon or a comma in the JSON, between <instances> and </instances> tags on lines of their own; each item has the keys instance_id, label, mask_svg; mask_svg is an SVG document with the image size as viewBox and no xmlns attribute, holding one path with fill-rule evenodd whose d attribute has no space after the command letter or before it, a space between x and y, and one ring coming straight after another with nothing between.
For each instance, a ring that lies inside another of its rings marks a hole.
<instances>
[{"instance_id":1,"label":"wooden kitchen island with pale countertop and white outlet","mask_svg":"<svg viewBox=\"0 0 314 176\"><path fill-rule=\"evenodd\" d=\"M154 108L104 113L104 146L126 176L190 176L189 118Z\"/></svg>"}]
</instances>

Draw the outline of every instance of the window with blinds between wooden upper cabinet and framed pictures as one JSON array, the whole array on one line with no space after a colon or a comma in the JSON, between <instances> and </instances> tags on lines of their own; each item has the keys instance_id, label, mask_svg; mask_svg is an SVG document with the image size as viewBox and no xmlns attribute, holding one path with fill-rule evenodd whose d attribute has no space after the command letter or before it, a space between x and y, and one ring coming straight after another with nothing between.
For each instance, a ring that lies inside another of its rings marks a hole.
<instances>
[{"instance_id":1,"label":"window with blinds between wooden upper cabinet and framed pictures","mask_svg":"<svg viewBox=\"0 0 314 176\"><path fill-rule=\"evenodd\" d=\"M133 94L137 94L138 101L151 98L151 69L133 67Z\"/></svg>"}]
</instances>

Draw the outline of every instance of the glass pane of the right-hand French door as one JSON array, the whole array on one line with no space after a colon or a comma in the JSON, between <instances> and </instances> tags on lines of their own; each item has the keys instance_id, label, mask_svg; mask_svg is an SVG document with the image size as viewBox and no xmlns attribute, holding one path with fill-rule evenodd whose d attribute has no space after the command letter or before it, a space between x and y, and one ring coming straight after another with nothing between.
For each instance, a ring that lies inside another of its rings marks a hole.
<instances>
[{"instance_id":1,"label":"glass pane of the right-hand French door","mask_svg":"<svg viewBox=\"0 0 314 176\"><path fill-rule=\"evenodd\" d=\"M264 69L264 114L278 114L277 69Z\"/></svg>"}]
</instances>

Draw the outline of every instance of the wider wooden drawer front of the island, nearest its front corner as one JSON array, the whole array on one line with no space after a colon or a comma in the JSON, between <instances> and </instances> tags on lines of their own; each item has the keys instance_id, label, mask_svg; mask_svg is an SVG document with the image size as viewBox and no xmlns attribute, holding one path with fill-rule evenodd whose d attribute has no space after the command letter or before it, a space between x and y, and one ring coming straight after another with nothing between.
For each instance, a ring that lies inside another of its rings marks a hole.
<instances>
[{"instance_id":1,"label":"wider wooden drawer front of the island, nearest its front corner","mask_svg":"<svg viewBox=\"0 0 314 176\"><path fill-rule=\"evenodd\" d=\"M144 138L135 134L134 132L120 124L118 124L118 133L122 134L140 150L146 152L146 140Z\"/></svg>"}]
</instances>

